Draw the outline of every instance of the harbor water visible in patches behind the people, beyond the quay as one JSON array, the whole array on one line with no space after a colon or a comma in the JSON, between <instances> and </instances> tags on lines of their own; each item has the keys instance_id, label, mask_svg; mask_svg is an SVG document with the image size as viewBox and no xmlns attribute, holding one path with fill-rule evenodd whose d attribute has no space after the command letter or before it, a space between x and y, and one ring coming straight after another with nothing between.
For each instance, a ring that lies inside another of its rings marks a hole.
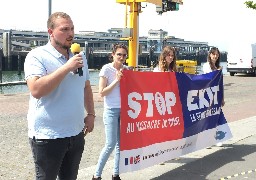
<instances>
[{"instance_id":1,"label":"harbor water visible in patches behind the people, beyond the quay","mask_svg":"<svg viewBox=\"0 0 256 180\"><path fill-rule=\"evenodd\" d=\"M227 74L227 63L220 64L223 67L223 74ZM201 69L201 67L199 68ZM201 71L198 72L202 73ZM90 82L91 85L98 85L99 82L99 71L91 70ZM24 81L24 72L19 73L17 71L3 71L2 72L2 82L13 82L13 81ZM0 86L0 94L14 94L14 93L26 93L28 92L27 85L11 85L11 86Z\"/></svg>"}]
</instances>

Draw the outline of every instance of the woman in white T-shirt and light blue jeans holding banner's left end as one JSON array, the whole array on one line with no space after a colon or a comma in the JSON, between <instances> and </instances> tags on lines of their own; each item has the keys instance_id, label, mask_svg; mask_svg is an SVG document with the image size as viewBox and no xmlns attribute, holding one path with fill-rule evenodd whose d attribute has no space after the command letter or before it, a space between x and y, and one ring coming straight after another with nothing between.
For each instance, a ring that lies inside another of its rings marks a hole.
<instances>
[{"instance_id":1,"label":"woman in white T-shirt and light blue jeans holding banner's left end","mask_svg":"<svg viewBox=\"0 0 256 180\"><path fill-rule=\"evenodd\" d=\"M121 180L119 177L120 159L120 80L123 76L124 63L126 61L128 49L124 44L113 46L111 60L113 62L105 64L100 73L99 94L104 97L103 122L105 125L106 142L99 156L95 175L92 180L100 180L103 168L115 149L115 160L112 180Z\"/></svg>"}]
</instances>

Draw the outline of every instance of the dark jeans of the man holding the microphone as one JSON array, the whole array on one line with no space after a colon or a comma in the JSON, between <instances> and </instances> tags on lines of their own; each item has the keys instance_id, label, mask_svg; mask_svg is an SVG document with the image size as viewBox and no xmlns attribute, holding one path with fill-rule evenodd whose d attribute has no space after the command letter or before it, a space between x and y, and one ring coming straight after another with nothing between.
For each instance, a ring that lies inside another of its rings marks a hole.
<instances>
[{"instance_id":1,"label":"dark jeans of the man holding the microphone","mask_svg":"<svg viewBox=\"0 0 256 180\"><path fill-rule=\"evenodd\" d=\"M75 180L84 151L84 133L59 139L31 139L37 180Z\"/></svg>"}]
</instances>

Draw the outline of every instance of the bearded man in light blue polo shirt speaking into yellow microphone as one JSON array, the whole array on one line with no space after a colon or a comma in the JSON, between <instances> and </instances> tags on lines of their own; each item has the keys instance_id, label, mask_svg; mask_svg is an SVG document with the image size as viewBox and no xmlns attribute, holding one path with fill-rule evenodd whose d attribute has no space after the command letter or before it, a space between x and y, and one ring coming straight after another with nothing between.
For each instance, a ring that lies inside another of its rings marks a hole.
<instances>
[{"instance_id":1,"label":"bearded man in light blue polo shirt speaking into yellow microphone","mask_svg":"<svg viewBox=\"0 0 256 180\"><path fill-rule=\"evenodd\" d=\"M88 65L84 54L70 50L74 25L68 14L53 13L47 28L48 44L30 51L24 64L29 143L37 180L75 180L84 136L95 120ZM79 68L83 72L74 73Z\"/></svg>"}]
</instances>

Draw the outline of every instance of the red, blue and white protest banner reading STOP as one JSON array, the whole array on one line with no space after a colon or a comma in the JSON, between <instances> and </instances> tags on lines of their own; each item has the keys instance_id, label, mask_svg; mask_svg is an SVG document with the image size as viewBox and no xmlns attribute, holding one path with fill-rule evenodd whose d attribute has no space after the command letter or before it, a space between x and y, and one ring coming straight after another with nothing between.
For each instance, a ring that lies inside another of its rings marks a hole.
<instances>
[{"instance_id":1,"label":"red, blue and white protest banner reading STOP","mask_svg":"<svg viewBox=\"0 0 256 180\"><path fill-rule=\"evenodd\" d=\"M221 71L193 75L125 70L120 89L120 173L232 137L221 109Z\"/></svg>"}]
</instances>

